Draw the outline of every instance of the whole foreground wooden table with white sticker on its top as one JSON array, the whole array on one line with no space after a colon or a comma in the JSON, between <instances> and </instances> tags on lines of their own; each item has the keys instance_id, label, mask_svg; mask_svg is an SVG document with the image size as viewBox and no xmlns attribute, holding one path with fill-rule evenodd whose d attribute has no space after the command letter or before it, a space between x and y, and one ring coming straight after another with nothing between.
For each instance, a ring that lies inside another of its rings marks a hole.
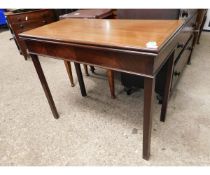
<instances>
[{"instance_id":1,"label":"whole foreground wooden table with white sticker on its top","mask_svg":"<svg viewBox=\"0 0 210 175\"><path fill-rule=\"evenodd\" d=\"M74 61L82 96L86 89L80 63L144 77L143 158L150 157L152 106L155 78L166 66L165 90L160 120L164 121L181 20L65 19L20 34L41 81L55 118L55 107L37 55ZM157 48L148 48L155 41Z\"/></svg>"}]
</instances>

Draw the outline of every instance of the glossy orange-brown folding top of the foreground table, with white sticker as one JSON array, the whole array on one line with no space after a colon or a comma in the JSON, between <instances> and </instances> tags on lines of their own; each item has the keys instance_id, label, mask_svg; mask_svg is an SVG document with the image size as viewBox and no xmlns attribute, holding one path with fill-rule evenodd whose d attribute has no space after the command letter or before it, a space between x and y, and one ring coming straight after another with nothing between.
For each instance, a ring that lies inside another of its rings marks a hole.
<instances>
[{"instance_id":1,"label":"glossy orange-brown folding top of the foreground table, with white sticker","mask_svg":"<svg viewBox=\"0 0 210 175\"><path fill-rule=\"evenodd\" d=\"M20 34L23 39L158 53L182 20L64 19ZM157 47L148 47L156 42Z\"/></svg>"}]
</instances>

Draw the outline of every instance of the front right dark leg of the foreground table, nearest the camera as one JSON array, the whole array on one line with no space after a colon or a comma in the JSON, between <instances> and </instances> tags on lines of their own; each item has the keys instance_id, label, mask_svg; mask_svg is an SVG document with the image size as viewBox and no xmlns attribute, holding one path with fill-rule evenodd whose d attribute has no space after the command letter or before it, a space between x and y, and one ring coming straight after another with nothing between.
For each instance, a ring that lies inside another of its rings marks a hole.
<instances>
[{"instance_id":1,"label":"front right dark leg of the foreground table, nearest the camera","mask_svg":"<svg viewBox=\"0 0 210 175\"><path fill-rule=\"evenodd\" d=\"M152 106L154 100L154 78L144 78L144 122L143 122L143 159L149 160L152 128Z\"/></svg>"}]
</instances>

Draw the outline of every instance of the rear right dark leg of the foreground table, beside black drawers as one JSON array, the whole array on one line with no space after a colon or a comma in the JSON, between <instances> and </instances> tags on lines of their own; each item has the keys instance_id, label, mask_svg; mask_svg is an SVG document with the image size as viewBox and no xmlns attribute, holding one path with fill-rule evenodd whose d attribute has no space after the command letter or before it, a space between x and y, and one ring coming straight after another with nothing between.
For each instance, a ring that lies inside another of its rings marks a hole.
<instances>
[{"instance_id":1,"label":"rear right dark leg of the foreground table, beside black drawers","mask_svg":"<svg viewBox=\"0 0 210 175\"><path fill-rule=\"evenodd\" d=\"M160 114L160 121L162 122L164 122L166 118L168 99L170 95L172 75L173 75L174 53L170 56L166 64L167 64L166 82L165 82L163 102L162 102L161 114Z\"/></svg>"}]
</instances>

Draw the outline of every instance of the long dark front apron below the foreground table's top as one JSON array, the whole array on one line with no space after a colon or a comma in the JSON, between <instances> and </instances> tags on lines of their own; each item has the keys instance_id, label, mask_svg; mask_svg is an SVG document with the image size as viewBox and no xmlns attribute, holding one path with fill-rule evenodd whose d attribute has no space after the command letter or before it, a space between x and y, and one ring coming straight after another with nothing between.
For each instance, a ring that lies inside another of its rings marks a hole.
<instances>
[{"instance_id":1,"label":"long dark front apron below the foreground table's top","mask_svg":"<svg viewBox=\"0 0 210 175\"><path fill-rule=\"evenodd\" d=\"M97 65L99 67L145 77L154 76L153 68L156 56L151 53L122 52L118 50L96 49L93 47L80 47L36 40L25 40L25 43L30 54Z\"/></svg>"}]
</instances>

